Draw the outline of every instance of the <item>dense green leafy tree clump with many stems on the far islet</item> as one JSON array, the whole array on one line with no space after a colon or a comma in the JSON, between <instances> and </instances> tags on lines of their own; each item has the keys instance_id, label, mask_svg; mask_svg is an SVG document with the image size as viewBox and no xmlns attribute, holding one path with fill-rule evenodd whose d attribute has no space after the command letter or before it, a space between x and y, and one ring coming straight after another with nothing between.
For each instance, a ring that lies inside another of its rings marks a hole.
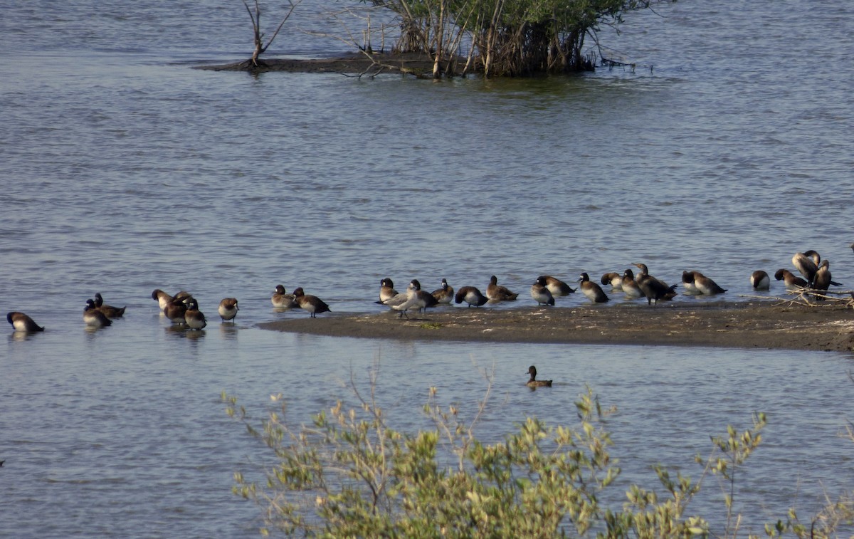
<instances>
[{"instance_id":1,"label":"dense green leafy tree clump with many stems on the far islet","mask_svg":"<svg viewBox=\"0 0 854 539\"><path fill-rule=\"evenodd\" d=\"M442 73L470 45L466 69L484 76L521 76L592 70L584 38L623 14L670 0L363 0L401 19L401 52L424 52Z\"/></svg>"}]
</instances>

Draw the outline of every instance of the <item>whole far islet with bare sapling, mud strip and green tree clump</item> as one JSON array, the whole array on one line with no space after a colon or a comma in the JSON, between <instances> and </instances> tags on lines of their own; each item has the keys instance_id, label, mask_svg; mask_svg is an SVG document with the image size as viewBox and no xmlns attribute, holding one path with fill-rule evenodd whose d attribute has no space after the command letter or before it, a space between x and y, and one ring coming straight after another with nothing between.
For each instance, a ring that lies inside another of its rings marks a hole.
<instances>
[{"instance_id":1,"label":"whole far islet with bare sapling, mud strip and green tree clump","mask_svg":"<svg viewBox=\"0 0 854 539\"><path fill-rule=\"evenodd\" d=\"M262 59L301 0L290 0L271 38L262 32L258 0L244 6L252 20L254 50L249 60L205 69L337 72L376 75L405 73L439 79L477 73L484 78L520 77L594 70L616 63L585 39L598 43L604 26L623 23L623 15L672 0L361 0L348 14L365 26L346 32L352 52L317 60ZM375 21L382 21L375 23ZM358 36L358 37L354 37ZM378 43L378 47L375 46ZM390 50L385 44L391 43Z\"/></svg>"}]
</instances>

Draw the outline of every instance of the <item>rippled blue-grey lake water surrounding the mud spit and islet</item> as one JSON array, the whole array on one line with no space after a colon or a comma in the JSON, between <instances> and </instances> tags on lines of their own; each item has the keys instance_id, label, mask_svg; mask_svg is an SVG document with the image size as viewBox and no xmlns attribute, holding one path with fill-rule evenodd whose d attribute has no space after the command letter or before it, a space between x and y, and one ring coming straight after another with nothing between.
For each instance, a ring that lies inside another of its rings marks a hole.
<instances>
[{"instance_id":1,"label":"rippled blue-grey lake water surrounding the mud spit and islet","mask_svg":"<svg viewBox=\"0 0 854 539\"><path fill-rule=\"evenodd\" d=\"M295 31L333 32L325 4L301 6L272 56L345 50ZM740 301L753 270L790 267L805 249L854 283L854 4L657 12L602 35L634 70L436 83L191 68L248 56L239 2L4 6L0 310L48 330L0 344L0 536L255 536L259 510L231 495L231 474L265 455L220 392L256 415L281 393L300 422L348 398L351 373L364 389L377 362L377 394L402 430L425 425L430 386L471 409L481 368L494 372L480 427L493 439L529 414L571 424L589 384L619 408L623 481L649 488L659 462L699 477L708 436L764 411L740 498L752 524L851 488L852 446L838 436L854 419L850 354L255 327L306 315L272 311L279 283L334 315L381 313L371 302L386 276L432 290L494 274L529 305L542 273L574 280L642 261L670 282L699 269ZM173 331L155 288L192 291L208 328ZM126 318L85 331L97 291ZM217 320L225 296L240 300L236 325ZM552 390L524 388L532 363ZM693 508L715 515L707 487Z\"/></svg>"}]
</instances>

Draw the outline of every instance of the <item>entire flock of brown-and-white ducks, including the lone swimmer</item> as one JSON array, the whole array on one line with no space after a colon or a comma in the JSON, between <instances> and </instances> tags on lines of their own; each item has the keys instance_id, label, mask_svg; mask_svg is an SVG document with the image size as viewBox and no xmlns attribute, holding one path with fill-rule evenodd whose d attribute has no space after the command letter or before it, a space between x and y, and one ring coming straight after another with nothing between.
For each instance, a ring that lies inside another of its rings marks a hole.
<instances>
[{"instance_id":1,"label":"entire flock of brown-and-white ducks, including the lone swimmer","mask_svg":"<svg viewBox=\"0 0 854 539\"><path fill-rule=\"evenodd\" d=\"M854 244L852 244L851 249L854 249ZM822 257L815 250L810 249L803 253L795 253L792 257L792 263L803 278L785 268L775 272L775 279L783 281L789 290L813 290L816 297L821 299L820 292L828 290L832 284L840 285L831 277L830 263L827 260L822 261ZM646 297L647 304L653 302L658 304L659 301L667 301L676 296L677 284L667 284L659 278L652 277L646 264L635 263L633 265L639 269L636 275L631 269L626 269L623 273L608 272L602 275L600 283L606 286L610 285L611 292L622 291L627 299ZM768 273L762 270L753 272L750 281L754 290L768 290L771 284ZM574 289L559 278L541 275L531 284L530 296L537 302L537 305L554 305L555 297L567 296L576 290L581 290L582 294L588 297L591 302L610 301L605 290L602 290L600 284L591 281L588 273L582 273L577 279L577 283L578 288ZM714 280L698 271L682 272L681 285L683 294L688 296L713 296L727 291ZM417 309L418 312L421 312L436 305L450 304L452 301L457 304L465 302L468 307L480 307L486 302L513 301L518 296L517 292L498 284L498 278L494 275L489 278L486 294L483 294L475 286L463 286L454 292L453 287L447 284L447 280L444 278L442 279L442 287L430 293L421 290L418 279L412 279L405 292L398 292L390 278L383 278L380 281L377 303L397 311L399 313L398 318L406 317L408 319L407 312L411 309ZM208 325L204 313L199 310L198 302L188 292L182 290L171 296L167 292L157 289L151 293L151 298L158 302L163 314L174 324L186 325L191 330L201 330ZM309 313L311 318L315 318L319 313L327 313L331 310L329 305L319 297L308 295L301 288L297 288L293 293L288 294L282 284L279 284L273 291L271 302L272 306L278 310L301 308ZM219 302L217 313L219 318L226 322L233 321L238 310L237 298L226 297ZM98 293L94 298L86 301L83 321L87 327L98 328L111 325L113 319L120 318L124 313L124 307L116 308L105 304L103 297ZM11 312L6 315L6 319L15 331L44 331L44 326L38 325L25 313ZM534 366L530 367L529 374L531 375L530 382L535 382L536 369ZM548 382L550 385L551 381Z\"/></svg>"}]
</instances>

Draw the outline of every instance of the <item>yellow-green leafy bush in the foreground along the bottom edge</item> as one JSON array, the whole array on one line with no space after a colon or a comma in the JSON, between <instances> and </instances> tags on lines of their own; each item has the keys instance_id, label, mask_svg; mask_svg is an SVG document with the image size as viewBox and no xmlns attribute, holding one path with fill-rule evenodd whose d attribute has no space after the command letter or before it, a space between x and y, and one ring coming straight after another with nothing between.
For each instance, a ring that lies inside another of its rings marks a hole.
<instances>
[{"instance_id":1,"label":"yellow-green leafy bush in the foreground along the bottom edge","mask_svg":"<svg viewBox=\"0 0 854 539\"><path fill-rule=\"evenodd\" d=\"M424 413L435 428L410 435L391 429L372 397L356 395L360 409L345 409L339 401L310 426L290 427L282 404L256 428L237 399L223 394L227 412L276 457L264 487L235 474L235 492L265 507L264 535L734 537L740 531L740 515L733 511L736 473L759 446L766 424L760 413L750 430L729 427L726 436L712 438L710 457L698 457L703 477L717 475L725 486L728 518L725 529L715 532L704 518L686 514L702 480L671 477L664 467L656 472L665 495L633 485L622 508L604 507L601 493L620 470L604 428L610 411L589 389L576 402L576 428L528 418L518 432L491 445L472 432L487 399L465 424L455 407L436 403L431 389ZM790 510L767 524L765 534L829 537L852 519L854 503L844 498L808 524Z\"/></svg>"}]
</instances>

